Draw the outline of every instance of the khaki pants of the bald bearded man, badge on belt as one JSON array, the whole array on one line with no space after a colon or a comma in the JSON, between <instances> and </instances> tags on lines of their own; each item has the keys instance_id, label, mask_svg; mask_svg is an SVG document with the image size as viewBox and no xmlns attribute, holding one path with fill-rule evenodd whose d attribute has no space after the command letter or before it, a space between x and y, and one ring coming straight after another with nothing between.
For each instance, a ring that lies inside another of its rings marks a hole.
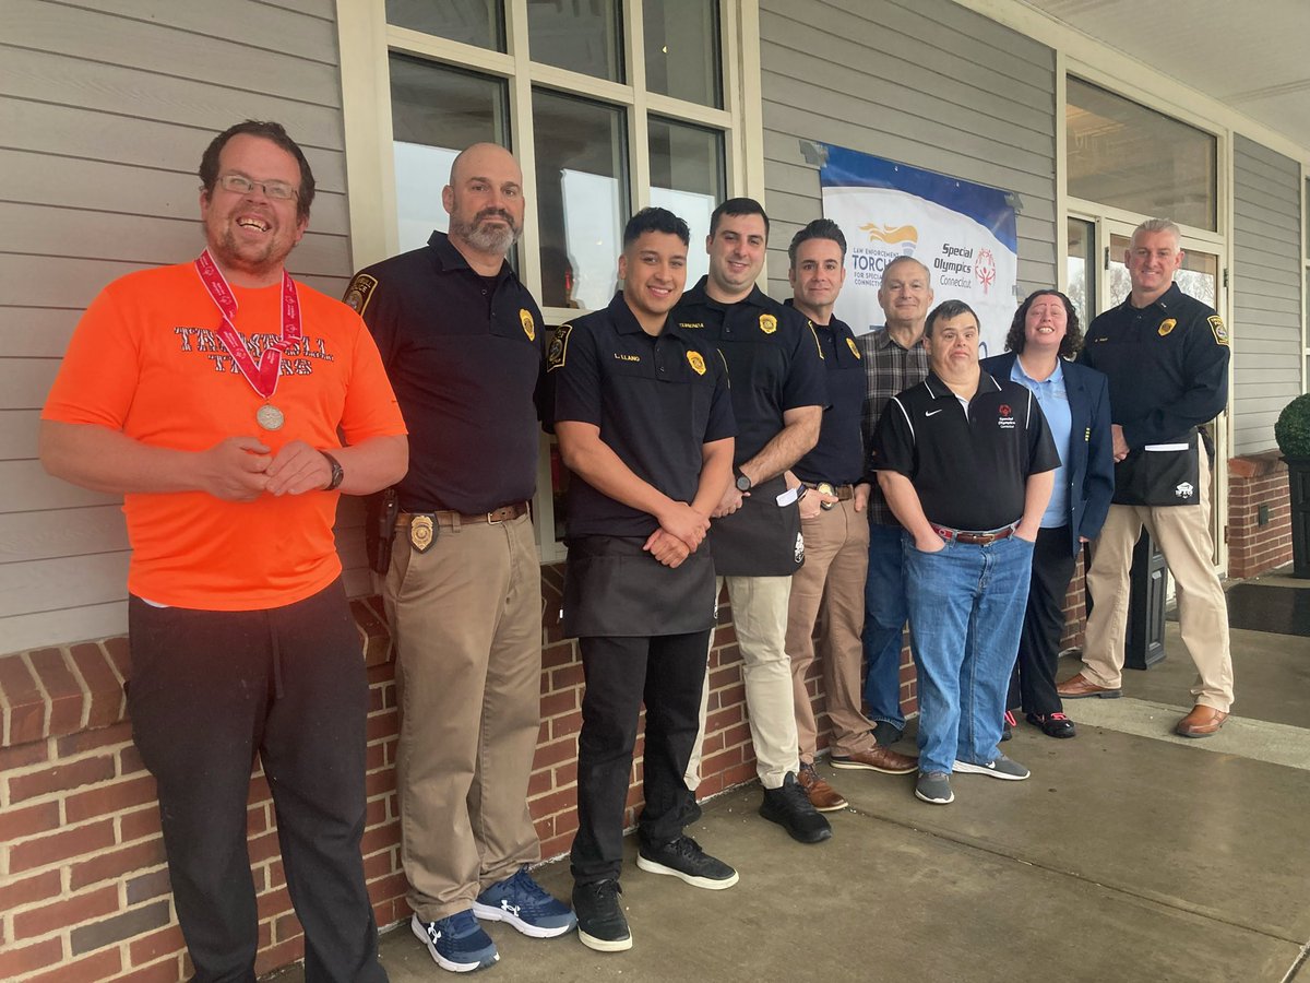
<instances>
[{"instance_id":1,"label":"khaki pants of the bald bearded man, badge on belt","mask_svg":"<svg viewBox=\"0 0 1310 983\"><path fill-rule=\"evenodd\" d=\"M528 776L541 717L541 570L528 516L401 530L385 600L396 630L401 862L424 921L464 911L540 860Z\"/></svg>"}]
</instances>

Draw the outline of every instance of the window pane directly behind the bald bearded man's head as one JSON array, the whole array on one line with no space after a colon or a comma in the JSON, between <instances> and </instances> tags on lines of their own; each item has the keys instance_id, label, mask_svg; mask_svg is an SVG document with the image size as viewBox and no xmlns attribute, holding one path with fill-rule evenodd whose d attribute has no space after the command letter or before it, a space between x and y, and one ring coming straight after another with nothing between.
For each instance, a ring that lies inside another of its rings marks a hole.
<instances>
[{"instance_id":1,"label":"window pane directly behind the bald bearded man's head","mask_svg":"<svg viewBox=\"0 0 1310 983\"><path fill-rule=\"evenodd\" d=\"M451 161L472 143L510 145L506 83L419 58L390 56L392 139L400 246L418 249L447 231L441 189Z\"/></svg>"}]
</instances>

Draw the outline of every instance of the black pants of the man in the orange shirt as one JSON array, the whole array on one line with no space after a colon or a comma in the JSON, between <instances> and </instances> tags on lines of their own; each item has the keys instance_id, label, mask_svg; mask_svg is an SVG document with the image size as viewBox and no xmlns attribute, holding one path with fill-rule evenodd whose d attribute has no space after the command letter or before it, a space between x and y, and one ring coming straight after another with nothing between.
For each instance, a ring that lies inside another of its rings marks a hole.
<instances>
[{"instance_id":1,"label":"black pants of the man in the orange shirt","mask_svg":"<svg viewBox=\"0 0 1310 983\"><path fill-rule=\"evenodd\" d=\"M359 852L368 684L341 581L266 611L131 598L128 624L132 737L159 782L193 979L254 980L246 796L258 751L305 929L305 979L385 980Z\"/></svg>"}]
</instances>

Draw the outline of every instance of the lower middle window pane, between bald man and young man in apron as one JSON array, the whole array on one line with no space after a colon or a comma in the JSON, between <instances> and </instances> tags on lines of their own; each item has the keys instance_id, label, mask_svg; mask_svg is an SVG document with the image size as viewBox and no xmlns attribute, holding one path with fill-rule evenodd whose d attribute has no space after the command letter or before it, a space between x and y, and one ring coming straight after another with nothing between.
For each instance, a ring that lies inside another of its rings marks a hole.
<instances>
[{"instance_id":1,"label":"lower middle window pane, between bald man and young man in apron","mask_svg":"<svg viewBox=\"0 0 1310 983\"><path fill-rule=\"evenodd\" d=\"M536 90L532 126L537 144L541 303L596 311L614 295L631 201L624 113Z\"/></svg>"}]
</instances>

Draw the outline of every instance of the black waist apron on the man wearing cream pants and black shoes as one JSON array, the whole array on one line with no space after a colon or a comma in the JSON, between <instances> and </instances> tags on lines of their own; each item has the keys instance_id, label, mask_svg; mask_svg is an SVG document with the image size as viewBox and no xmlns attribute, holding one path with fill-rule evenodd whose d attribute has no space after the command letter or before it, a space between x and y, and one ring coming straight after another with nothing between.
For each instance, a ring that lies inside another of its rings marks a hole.
<instances>
[{"instance_id":1,"label":"black waist apron on the man wearing cream pants and black shoes","mask_svg":"<svg viewBox=\"0 0 1310 983\"><path fill-rule=\"evenodd\" d=\"M710 522L714 571L719 577L791 577L804 562L800 506L779 506L787 490L782 474L756 485L741 507Z\"/></svg>"}]
</instances>

